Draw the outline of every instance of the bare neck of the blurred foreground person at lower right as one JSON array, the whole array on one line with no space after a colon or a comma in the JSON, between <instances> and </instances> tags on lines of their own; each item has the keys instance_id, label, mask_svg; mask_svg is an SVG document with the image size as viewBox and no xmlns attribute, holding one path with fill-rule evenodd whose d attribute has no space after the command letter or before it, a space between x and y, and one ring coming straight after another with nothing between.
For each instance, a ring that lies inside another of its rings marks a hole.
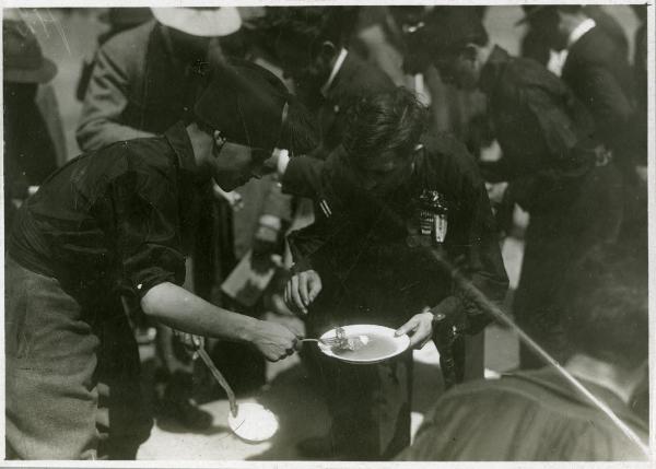
<instances>
[{"instance_id":1,"label":"bare neck of the blurred foreground person at lower right","mask_svg":"<svg viewBox=\"0 0 656 469\"><path fill-rule=\"evenodd\" d=\"M565 370L578 378L610 389L625 403L631 401L644 376L643 366L625 370L583 354L572 356L567 361Z\"/></svg>"}]
</instances>

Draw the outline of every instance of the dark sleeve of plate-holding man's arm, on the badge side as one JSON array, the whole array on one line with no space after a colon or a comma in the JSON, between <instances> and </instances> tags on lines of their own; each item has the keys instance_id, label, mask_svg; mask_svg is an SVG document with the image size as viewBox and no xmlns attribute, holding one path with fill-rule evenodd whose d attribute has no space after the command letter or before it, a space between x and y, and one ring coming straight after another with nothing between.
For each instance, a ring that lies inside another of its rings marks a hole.
<instances>
[{"instance_id":1,"label":"dark sleeve of plate-holding man's arm, on the badge side","mask_svg":"<svg viewBox=\"0 0 656 469\"><path fill-rule=\"evenodd\" d=\"M444 154L432 156L437 163L431 176L437 187L448 188L452 200L445 239L448 257L454 262L453 267L476 289L499 304L505 297L508 279L484 181L473 157L462 144L452 139L444 151ZM457 285L454 295L459 300L459 307L470 328L480 329L489 321L484 310ZM476 332L473 329L470 331Z\"/></svg>"}]
</instances>

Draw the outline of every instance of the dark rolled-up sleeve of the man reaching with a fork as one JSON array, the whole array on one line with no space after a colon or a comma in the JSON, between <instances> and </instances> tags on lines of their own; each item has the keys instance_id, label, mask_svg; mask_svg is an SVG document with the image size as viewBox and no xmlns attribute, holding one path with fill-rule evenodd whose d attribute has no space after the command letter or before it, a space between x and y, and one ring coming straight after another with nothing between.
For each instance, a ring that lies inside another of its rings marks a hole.
<instances>
[{"instance_id":1,"label":"dark rolled-up sleeve of the man reaching with a fork","mask_svg":"<svg viewBox=\"0 0 656 469\"><path fill-rule=\"evenodd\" d=\"M139 169L113 185L122 278L140 297L160 283L181 284L185 279L178 192L172 183L163 174Z\"/></svg>"}]
</instances>

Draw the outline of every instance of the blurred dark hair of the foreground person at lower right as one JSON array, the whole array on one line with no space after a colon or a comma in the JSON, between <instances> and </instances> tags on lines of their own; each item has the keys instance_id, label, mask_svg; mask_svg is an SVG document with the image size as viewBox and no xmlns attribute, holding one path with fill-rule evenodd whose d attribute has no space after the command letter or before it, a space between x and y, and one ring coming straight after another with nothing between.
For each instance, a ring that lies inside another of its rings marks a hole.
<instances>
[{"instance_id":1,"label":"blurred dark hair of the foreground person at lower right","mask_svg":"<svg viewBox=\"0 0 656 469\"><path fill-rule=\"evenodd\" d=\"M600 245L565 274L559 298L571 350L629 370L648 351L647 265Z\"/></svg>"}]
</instances>

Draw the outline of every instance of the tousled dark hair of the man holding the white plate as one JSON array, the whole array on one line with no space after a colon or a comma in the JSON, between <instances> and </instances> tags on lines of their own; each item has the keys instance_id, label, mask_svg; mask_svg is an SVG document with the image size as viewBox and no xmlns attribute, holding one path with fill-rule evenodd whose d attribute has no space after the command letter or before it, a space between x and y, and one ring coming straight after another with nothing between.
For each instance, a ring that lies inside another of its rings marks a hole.
<instances>
[{"instance_id":1,"label":"tousled dark hair of the man holding the white plate","mask_svg":"<svg viewBox=\"0 0 656 469\"><path fill-rule=\"evenodd\" d=\"M426 120L425 106L402 86L371 94L349 108L343 145L350 157L360 162L385 151L409 152L419 142Z\"/></svg>"}]
</instances>

